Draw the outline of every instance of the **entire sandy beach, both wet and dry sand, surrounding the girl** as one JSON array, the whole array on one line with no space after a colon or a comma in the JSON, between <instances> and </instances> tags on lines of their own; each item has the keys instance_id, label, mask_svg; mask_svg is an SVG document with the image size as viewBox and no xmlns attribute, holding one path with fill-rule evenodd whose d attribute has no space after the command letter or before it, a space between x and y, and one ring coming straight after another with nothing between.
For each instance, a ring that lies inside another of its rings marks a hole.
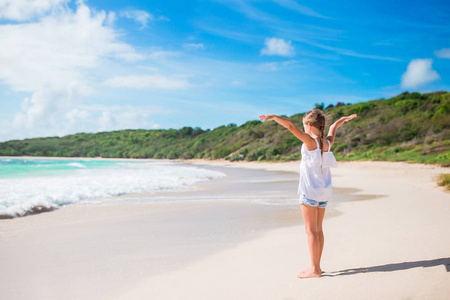
<instances>
[{"instance_id":1,"label":"entire sandy beach, both wet and dry sand, surrounding the girl","mask_svg":"<svg viewBox=\"0 0 450 300\"><path fill-rule=\"evenodd\" d=\"M448 299L450 194L433 179L448 168L340 162L333 185L347 201L338 195L326 212L326 273L300 280L298 162L190 163L228 176L171 196L182 202L0 220L2 297Z\"/></svg>"}]
</instances>

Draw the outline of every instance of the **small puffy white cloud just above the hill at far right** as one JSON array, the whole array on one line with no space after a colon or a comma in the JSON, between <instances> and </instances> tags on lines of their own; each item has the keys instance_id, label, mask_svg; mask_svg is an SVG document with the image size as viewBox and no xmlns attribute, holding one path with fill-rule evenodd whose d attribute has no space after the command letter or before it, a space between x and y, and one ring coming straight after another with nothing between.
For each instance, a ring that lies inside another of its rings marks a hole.
<instances>
[{"instance_id":1,"label":"small puffy white cloud just above the hill at far right","mask_svg":"<svg viewBox=\"0 0 450 300\"><path fill-rule=\"evenodd\" d=\"M432 68L432 59L413 59L402 75L402 88L416 88L440 79L439 74Z\"/></svg>"}]
</instances>

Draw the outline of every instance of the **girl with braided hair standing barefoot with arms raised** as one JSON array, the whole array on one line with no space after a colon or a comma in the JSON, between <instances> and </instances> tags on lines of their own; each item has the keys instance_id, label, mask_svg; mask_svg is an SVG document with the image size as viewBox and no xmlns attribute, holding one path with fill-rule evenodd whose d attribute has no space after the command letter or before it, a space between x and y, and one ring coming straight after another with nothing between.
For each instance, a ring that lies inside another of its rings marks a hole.
<instances>
[{"instance_id":1,"label":"girl with braided hair standing barefoot with arms raised","mask_svg":"<svg viewBox=\"0 0 450 300\"><path fill-rule=\"evenodd\" d=\"M336 159L330 151L336 130L357 115L342 117L331 125L328 136L324 138L325 115L321 110L313 109L303 116L303 128L298 129L290 120L276 115L259 116L261 121L274 120L289 129L303 142L300 162L300 182L298 193L308 236L311 267L303 270L298 278L321 277L320 258L324 237L322 221L328 200L333 198L330 167L337 167Z\"/></svg>"}]
</instances>

